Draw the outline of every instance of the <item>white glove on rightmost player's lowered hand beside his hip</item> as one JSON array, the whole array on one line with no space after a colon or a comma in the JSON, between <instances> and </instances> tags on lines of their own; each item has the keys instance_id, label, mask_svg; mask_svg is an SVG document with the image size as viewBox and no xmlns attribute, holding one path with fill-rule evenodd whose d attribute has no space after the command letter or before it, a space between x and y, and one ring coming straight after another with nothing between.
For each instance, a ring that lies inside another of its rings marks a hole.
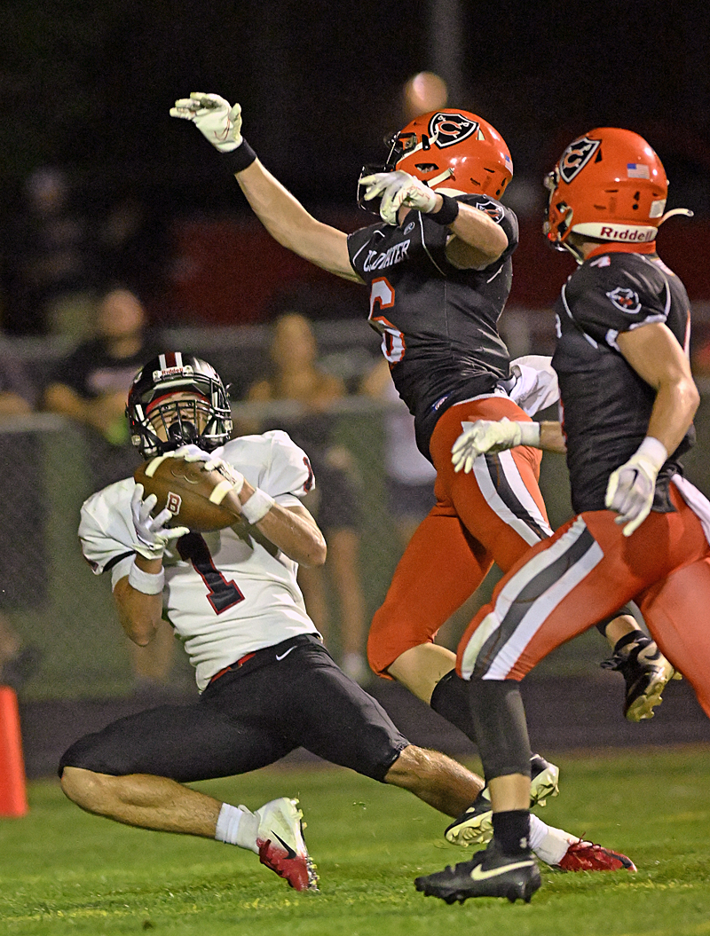
<instances>
[{"instance_id":1,"label":"white glove on rightmost player's lowered hand beside his hip","mask_svg":"<svg viewBox=\"0 0 710 936\"><path fill-rule=\"evenodd\" d=\"M634 454L609 475L604 504L626 523L623 533L630 536L648 517L656 493L656 478L668 458L666 446L647 435Z\"/></svg>"}]
</instances>

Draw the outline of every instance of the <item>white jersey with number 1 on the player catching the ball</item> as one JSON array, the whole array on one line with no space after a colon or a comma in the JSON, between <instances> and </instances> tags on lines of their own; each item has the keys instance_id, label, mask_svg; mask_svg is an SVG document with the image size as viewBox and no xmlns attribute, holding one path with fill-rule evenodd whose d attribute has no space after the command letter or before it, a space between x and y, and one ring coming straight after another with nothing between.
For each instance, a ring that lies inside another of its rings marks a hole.
<instances>
[{"instance_id":1,"label":"white jersey with number 1 on the player catching the ball","mask_svg":"<svg viewBox=\"0 0 710 936\"><path fill-rule=\"evenodd\" d=\"M244 435L214 451L246 480L288 507L311 490L303 449L284 431ZM96 575L115 586L135 556L133 478L93 494L81 507L79 536ZM191 533L163 558L165 615L185 643L200 691L220 669L296 634L317 633L296 583L297 563L244 521L215 533Z\"/></svg>"}]
</instances>

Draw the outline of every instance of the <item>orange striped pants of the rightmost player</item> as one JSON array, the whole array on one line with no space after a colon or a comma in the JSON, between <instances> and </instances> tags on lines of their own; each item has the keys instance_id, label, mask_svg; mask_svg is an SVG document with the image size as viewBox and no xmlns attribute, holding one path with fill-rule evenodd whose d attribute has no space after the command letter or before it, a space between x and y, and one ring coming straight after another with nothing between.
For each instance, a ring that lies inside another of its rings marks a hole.
<instances>
[{"instance_id":1,"label":"orange striped pants of the rightmost player","mask_svg":"<svg viewBox=\"0 0 710 936\"><path fill-rule=\"evenodd\" d=\"M674 485L675 513L631 536L611 510L583 513L530 549L496 586L458 650L461 675L522 680L543 657L628 601L710 716L710 546Z\"/></svg>"}]
</instances>

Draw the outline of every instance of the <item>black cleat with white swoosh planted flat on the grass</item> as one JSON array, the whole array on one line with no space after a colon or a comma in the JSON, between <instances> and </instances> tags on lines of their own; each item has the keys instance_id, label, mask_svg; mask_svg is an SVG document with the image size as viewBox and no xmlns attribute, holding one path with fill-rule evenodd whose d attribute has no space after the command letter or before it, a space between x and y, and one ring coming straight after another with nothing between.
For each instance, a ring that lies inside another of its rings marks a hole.
<instances>
[{"instance_id":1,"label":"black cleat with white swoosh planted flat on the grass","mask_svg":"<svg viewBox=\"0 0 710 936\"><path fill-rule=\"evenodd\" d=\"M414 882L426 897L438 897L446 903L469 897L506 897L511 903L517 899L530 902L540 887L540 870L531 852L520 855L502 855L495 842L478 852L470 861L455 868L419 877Z\"/></svg>"}]
</instances>

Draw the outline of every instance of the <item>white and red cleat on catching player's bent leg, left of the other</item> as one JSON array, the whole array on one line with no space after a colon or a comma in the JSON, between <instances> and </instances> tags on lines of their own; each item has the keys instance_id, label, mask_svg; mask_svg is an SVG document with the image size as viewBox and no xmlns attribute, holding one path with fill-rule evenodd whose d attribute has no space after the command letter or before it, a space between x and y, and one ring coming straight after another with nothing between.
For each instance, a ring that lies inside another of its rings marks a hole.
<instances>
[{"instance_id":1,"label":"white and red cleat on catching player's bent leg, left of the other","mask_svg":"<svg viewBox=\"0 0 710 936\"><path fill-rule=\"evenodd\" d=\"M318 890L316 865L303 841L303 812L298 799L281 797L266 803L259 817L259 861L295 890Z\"/></svg>"}]
</instances>

